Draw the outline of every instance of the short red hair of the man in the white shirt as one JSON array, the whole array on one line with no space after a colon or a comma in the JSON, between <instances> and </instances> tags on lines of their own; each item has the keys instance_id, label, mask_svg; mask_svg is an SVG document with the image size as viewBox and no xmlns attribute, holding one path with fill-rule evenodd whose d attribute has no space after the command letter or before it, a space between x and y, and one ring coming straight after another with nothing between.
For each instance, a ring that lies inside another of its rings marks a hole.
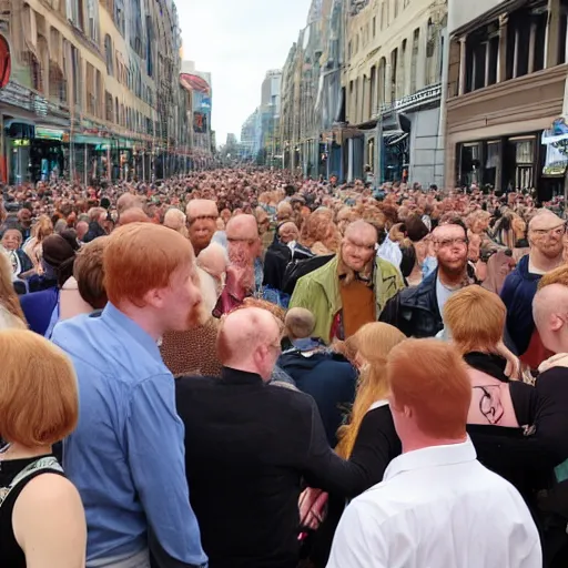
<instances>
[{"instance_id":1,"label":"short red hair of the man in the white shirt","mask_svg":"<svg viewBox=\"0 0 568 568\"><path fill-rule=\"evenodd\" d=\"M407 406L420 430L434 438L466 435L471 385L457 349L439 339L408 339L388 355L387 381L394 403Z\"/></svg>"}]
</instances>

